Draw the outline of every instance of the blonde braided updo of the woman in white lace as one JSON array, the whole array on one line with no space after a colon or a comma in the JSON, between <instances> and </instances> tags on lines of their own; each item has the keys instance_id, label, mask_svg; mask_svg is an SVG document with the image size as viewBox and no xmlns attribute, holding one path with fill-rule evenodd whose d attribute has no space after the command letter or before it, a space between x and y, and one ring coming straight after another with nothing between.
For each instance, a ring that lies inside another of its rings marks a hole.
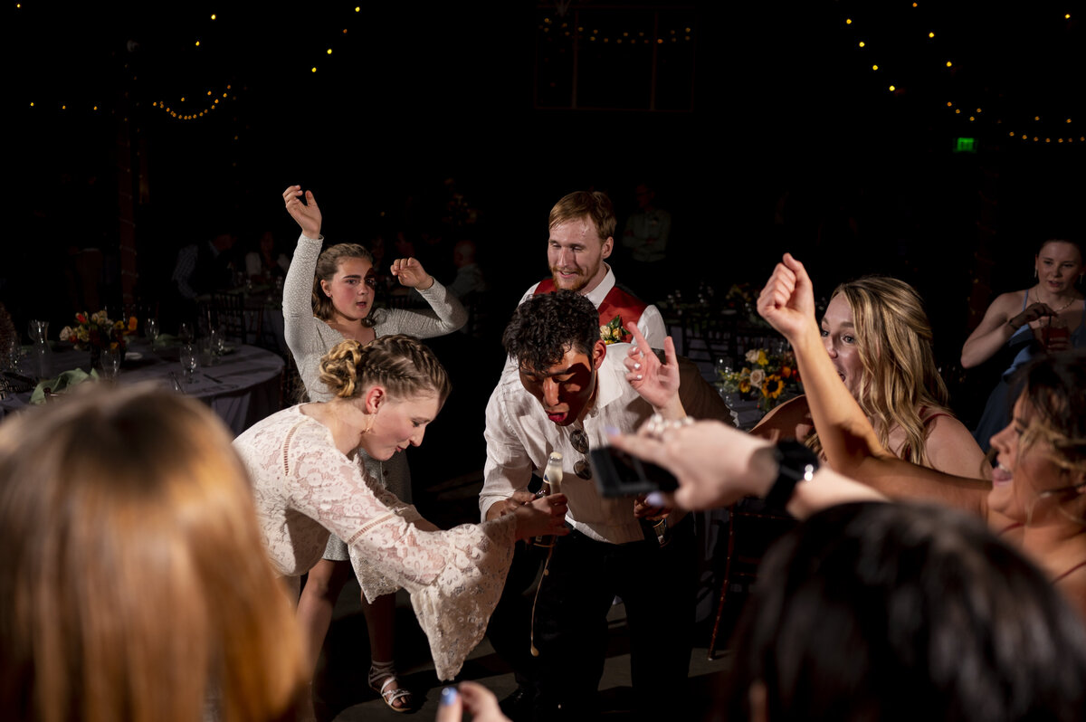
<instances>
[{"instance_id":1,"label":"blonde braided updo of the woman in white lace","mask_svg":"<svg viewBox=\"0 0 1086 722\"><path fill-rule=\"evenodd\" d=\"M320 380L337 398L354 398L372 384L399 400L435 394L444 404L453 384L426 344L409 335L382 335L363 345L346 340L320 359Z\"/></svg>"}]
</instances>

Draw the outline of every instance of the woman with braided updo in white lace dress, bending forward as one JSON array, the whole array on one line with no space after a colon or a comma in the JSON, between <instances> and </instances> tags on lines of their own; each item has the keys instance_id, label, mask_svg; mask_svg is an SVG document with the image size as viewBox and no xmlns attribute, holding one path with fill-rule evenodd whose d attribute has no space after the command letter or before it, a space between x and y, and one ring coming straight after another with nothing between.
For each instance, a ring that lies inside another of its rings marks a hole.
<instances>
[{"instance_id":1,"label":"woman with braided updo in white lace dress, bending forward","mask_svg":"<svg viewBox=\"0 0 1086 722\"><path fill-rule=\"evenodd\" d=\"M264 542L296 593L329 532L343 539L367 599L404 587L430 641L438 676L451 680L482 638L517 539L566 531L553 495L481 524L437 530L366 473L357 451L388 459L422 441L451 385L433 353L406 335L366 346L343 341L324 358L334 394L250 428L233 445L254 483Z\"/></svg>"}]
</instances>

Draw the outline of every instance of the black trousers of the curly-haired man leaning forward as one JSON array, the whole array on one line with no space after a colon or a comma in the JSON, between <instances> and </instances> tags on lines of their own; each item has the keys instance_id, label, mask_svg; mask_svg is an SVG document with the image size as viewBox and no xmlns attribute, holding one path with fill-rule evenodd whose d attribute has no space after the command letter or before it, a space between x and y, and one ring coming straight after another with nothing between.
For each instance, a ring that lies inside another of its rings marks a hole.
<instances>
[{"instance_id":1,"label":"black trousers of the curly-haired man leaning forward","mask_svg":"<svg viewBox=\"0 0 1086 722\"><path fill-rule=\"evenodd\" d=\"M536 720L596 719L616 595L626 605L636 709L649 718L684 698L696 585L693 524L690 518L677 524L666 547L648 534L629 544L576 531L558 539L535 609Z\"/></svg>"}]
</instances>

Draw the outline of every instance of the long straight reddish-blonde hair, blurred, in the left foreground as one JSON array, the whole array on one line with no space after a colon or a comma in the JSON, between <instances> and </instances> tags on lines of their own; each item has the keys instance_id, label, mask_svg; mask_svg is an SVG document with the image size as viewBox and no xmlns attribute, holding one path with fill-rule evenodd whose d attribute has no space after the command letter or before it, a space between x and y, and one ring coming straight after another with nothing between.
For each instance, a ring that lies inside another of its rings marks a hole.
<instances>
[{"instance_id":1,"label":"long straight reddish-blonde hair, blurred, in the left foreground","mask_svg":"<svg viewBox=\"0 0 1086 722\"><path fill-rule=\"evenodd\" d=\"M0 540L0 718L292 719L296 622L198 402L97 389L4 421Z\"/></svg>"}]
</instances>

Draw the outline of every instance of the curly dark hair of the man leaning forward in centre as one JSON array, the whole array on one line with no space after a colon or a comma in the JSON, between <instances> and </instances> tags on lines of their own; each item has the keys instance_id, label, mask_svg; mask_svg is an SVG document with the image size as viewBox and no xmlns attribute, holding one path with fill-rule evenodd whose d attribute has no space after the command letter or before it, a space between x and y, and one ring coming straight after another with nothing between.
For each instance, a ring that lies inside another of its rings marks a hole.
<instances>
[{"instance_id":1,"label":"curly dark hair of the man leaning forward in centre","mask_svg":"<svg viewBox=\"0 0 1086 722\"><path fill-rule=\"evenodd\" d=\"M525 301L505 327L505 352L523 368L543 370L569 349L588 354L599 340L599 312L574 291L541 293Z\"/></svg>"}]
</instances>

